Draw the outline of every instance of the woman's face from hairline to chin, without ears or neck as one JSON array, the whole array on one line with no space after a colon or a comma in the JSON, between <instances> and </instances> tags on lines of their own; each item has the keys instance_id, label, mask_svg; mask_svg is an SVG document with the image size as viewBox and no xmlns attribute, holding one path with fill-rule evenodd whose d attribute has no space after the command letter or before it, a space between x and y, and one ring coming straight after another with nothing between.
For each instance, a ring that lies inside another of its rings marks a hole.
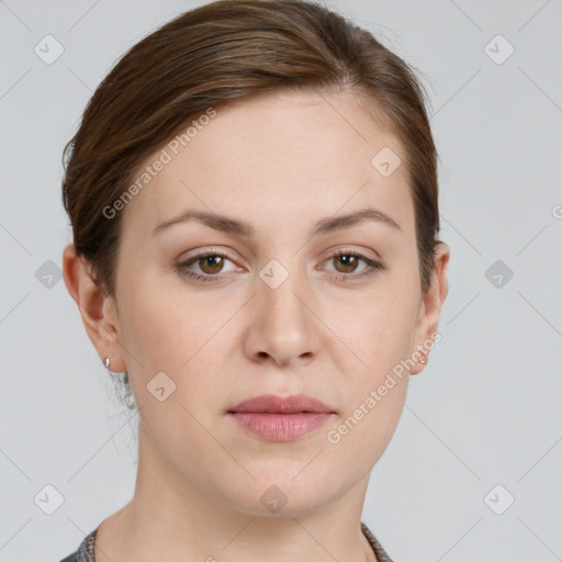
<instances>
[{"instance_id":1,"label":"woman's face from hairline to chin, without ears or neck","mask_svg":"<svg viewBox=\"0 0 562 562\"><path fill-rule=\"evenodd\" d=\"M384 147L404 156L350 93L277 92L218 108L126 205L112 361L146 447L187 486L251 514L269 490L302 513L364 481L387 446L408 381L396 366L437 319L405 166L371 161ZM286 434L255 415L257 434L229 412L263 394L330 413L304 434L310 415Z\"/></svg>"}]
</instances>

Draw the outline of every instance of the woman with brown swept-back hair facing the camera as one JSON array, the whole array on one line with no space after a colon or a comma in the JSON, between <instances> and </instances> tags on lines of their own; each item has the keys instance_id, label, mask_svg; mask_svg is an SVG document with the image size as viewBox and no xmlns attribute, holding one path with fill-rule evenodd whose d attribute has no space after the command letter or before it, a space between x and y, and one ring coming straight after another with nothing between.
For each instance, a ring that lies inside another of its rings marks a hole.
<instances>
[{"instance_id":1,"label":"woman with brown swept-back hair facing the camera","mask_svg":"<svg viewBox=\"0 0 562 562\"><path fill-rule=\"evenodd\" d=\"M66 285L138 408L134 497L65 559L386 561L361 513L447 295L406 64L296 0L189 11L65 149Z\"/></svg>"}]
</instances>

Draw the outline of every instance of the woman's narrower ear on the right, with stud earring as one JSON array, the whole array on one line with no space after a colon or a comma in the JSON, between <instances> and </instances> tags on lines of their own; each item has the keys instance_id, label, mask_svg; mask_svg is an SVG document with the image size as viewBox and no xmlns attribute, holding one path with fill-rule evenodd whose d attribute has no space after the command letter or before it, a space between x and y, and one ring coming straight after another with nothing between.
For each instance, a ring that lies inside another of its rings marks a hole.
<instances>
[{"instance_id":1,"label":"woman's narrower ear on the right, with stud earring","mask_svg":"<svg viewBox=\"0 0 562 562\"><path fill-rule=\"evenodd\" d=\"M437 326L439 325L441 306L449 291L447 282L449 257L449 246L442 241L438 243L435 248L435 266L429 288L425 295L423 295L419 306L415 336L416 348L413 350L419 350L419 353L416 353L414 357L417 355L420 355L425 359L429 357L428 342L435 338L434 334L437 331ZM424 370L426 364L427 363L416 362L411 369L409 374L418 374Z\"/></svg>"}]
</instances>

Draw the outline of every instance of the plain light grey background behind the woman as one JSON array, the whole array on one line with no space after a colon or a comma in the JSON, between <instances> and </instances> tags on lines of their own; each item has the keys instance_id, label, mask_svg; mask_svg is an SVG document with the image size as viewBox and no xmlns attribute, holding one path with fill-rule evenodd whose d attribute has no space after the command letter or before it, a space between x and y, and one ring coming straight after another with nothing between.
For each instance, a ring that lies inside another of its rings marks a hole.
<instances>
[{"instance_id":1,"label":"plain light grey background behind the woman","mask_svg":"<svg viewBox=\"0 0 562 562\"><path fill-rule=\"evenodd\" d=\"M0 562L64 558L133 494L132 422L56 277L60 157L125 49L201 3L0 1ZM396 562L562 560L562 0L329 5L423 71L451 247L442 340L363 520ZM34 502L47 484L53 515Z\"/></svg>"}]
</instances>

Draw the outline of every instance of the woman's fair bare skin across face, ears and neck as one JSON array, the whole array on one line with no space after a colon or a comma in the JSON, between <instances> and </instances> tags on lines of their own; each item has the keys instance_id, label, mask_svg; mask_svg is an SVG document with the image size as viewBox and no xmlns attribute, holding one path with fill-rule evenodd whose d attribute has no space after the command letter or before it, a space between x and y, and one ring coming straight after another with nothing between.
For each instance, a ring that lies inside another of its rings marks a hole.
<instances>
[{"instance_id":1,"label":"woman's fair bare skin across face, ears and neck","mask_svg":"<svg viewBox=\"0 0 562 562\"><path fill-rule=\"evenodd\" d=\"M114 299L72 245L65 249L65 282L88 335L113 371L128 371L140 409L134 498L101 522L98 562L154 562L162 553L169 562L375 560L361 512L403 411L407 372L339 442L326 435L430 340L449 261L441 243L423 294L405 165L390 177L371 165L385 146L404 156L349 92L238 100L218 108L126 205ZM364 221L310 237L317 221L367 206L400 229ZM196 221L153 235L184 210L246 221L255 237ZM184 270L221 281L175 268L196 249L226 255L223 269L195 260ZM340 249L386 267L359 277L367 263L353 269L334 258ZM272 259L289 272L277 289L259 277ZM160 371L177 385L164 402L146 387ZM251 396L301 392L336 414L293 441L249 435L226 414ZM272 485L288 498L276 514L260 502Z\"/></svg>"}]
</instances>

